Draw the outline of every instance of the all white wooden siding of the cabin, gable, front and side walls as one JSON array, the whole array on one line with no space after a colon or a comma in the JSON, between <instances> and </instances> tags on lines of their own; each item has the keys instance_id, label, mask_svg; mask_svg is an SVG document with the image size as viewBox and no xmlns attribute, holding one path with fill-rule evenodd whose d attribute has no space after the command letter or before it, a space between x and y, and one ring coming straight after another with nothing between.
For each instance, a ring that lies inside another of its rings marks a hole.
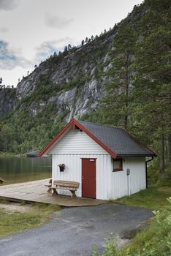
<instances>
[{"instance_id":1,"label":"all white wooden siding of the cabin, gable, front and side walls","mask_svg":"<svg viewBox=\"0 0 171 256\"><path fill-rule=\"evenodd\" d=\"M85 132L70 129L56 143L48 154L53 154L53 181L78 181L80 187L77 196L82 196L82 158L96 158L96 198L116 199L145 189L145 158L123 159L123 171L113 172L113 159ZM65 164L64 172L60 172L58 165ZM126 169L130 175L126 175ZM61 194L70 192L60 190Z\"/></svg>"}]
</instances>

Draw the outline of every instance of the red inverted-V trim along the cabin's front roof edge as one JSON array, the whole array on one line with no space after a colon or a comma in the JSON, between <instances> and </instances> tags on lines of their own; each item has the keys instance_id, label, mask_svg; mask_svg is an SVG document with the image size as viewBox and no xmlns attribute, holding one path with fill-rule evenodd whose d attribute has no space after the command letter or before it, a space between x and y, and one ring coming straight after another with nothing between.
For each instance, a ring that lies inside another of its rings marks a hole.
<instances>
[{"instance_id":1,"label":"red inverted-V trim along the cabin's front roof edge","mask_svg":"<svg viewBox=\"0 0 171 256\"><path fill-rule=\"evenodd\" d=\"M113 157L114 159L117 157L117 154L115 154L114 151L112 151L110 148L108 148L107 146L104 145L104 143L102 143L101 140L99 140L98 138L96 138L91 132L88 131L88 129L86 129L85 127L83 127L82 124L80 124L77 120L75 120L75 118L73 118L71 121L69 121L69 123L66 125L66 127L64 127L64 129L61 130L61 132L58 133L58 135L56 135L55 138L53 138L53 140L50 141L50 143L47 144L47 146L45 146L45 148L42 149L42 151L39 152L39 157L42 157L43 154L45 154L45 152L51 147L53 146L54 143L56 143L56 141L61 137L61 135L64 134L64 132L66 132L69 127L71 127L71 125L74 124L77 127L79 127L80 129L83 130L83 132L85 132L91 139L93 139L97 144L99 144L99 146L101 146L102 148L104 148L105 151L107 151L107 153L109 153L111 155L111 157Z\"/></svg>"}]
</instances>

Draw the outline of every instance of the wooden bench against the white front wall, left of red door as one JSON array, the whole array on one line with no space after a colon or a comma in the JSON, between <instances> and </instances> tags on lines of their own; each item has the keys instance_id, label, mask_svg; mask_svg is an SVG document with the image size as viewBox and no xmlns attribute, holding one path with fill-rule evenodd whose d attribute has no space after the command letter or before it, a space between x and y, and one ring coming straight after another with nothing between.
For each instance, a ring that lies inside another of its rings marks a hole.
<instances>
[{"instance_id":1,"label":"wooden bench against the white front wall, left of red door","mask_svg":"<svg viewBox=\"0 0 171 256\"><path fill-rule=\"evenodd\" d=\"M77 181L53 181L53 185L54 187L50 187L52 195L58 195L57 189L65 189L72 193L71 197L77 197L75 192L80 183Z\"/></svg>"}]
</instances>

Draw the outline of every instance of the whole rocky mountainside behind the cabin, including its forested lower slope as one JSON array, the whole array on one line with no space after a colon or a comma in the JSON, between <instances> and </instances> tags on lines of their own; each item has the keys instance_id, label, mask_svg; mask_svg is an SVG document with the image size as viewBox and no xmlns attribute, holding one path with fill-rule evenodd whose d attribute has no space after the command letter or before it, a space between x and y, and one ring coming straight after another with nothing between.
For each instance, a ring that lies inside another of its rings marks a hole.
<instances>
[{"instance_id":1,"label":"whole rocky mountainside behind the cabin, including its forested lower slope","mask_svg":"<svg viewBox=\"0 0 171 256\"><path fill-rule=\"evenodd\" d=\"M136 34L145 8L134 7L125 19ZM16 89L0 91L0 151L39 150L72 117L98 112L106 86L115 76L115 54L120 54L115 42L122 23L81 46L54 53Z\"/></svg>"}]
</instances>

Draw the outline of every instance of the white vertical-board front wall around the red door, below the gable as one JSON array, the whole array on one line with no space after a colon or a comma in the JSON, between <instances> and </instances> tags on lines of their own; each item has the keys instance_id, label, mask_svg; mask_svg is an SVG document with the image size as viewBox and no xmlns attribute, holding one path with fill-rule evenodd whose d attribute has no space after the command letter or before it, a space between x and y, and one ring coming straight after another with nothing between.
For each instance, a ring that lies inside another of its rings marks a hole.
<instances>
[{"instance_id":1,"label":"white vertical-board front wall around the red door, below the gable","mask_svg":"<svg viewBox=\"0 0 171 256\"><path fill-rule=\"evenodd\" d=\"M82 196L82 158L96 158L96 198L106 199L110 190L110 155L100 154L53 154L53 181L78 181L80 187L77 189L77 196ZM65 164L64 172L60 172L58 165ZM107 184L107 185L106 185ZM61 194L69 195L66 190L60 190Z\"/></svg>"}]
</instances>

